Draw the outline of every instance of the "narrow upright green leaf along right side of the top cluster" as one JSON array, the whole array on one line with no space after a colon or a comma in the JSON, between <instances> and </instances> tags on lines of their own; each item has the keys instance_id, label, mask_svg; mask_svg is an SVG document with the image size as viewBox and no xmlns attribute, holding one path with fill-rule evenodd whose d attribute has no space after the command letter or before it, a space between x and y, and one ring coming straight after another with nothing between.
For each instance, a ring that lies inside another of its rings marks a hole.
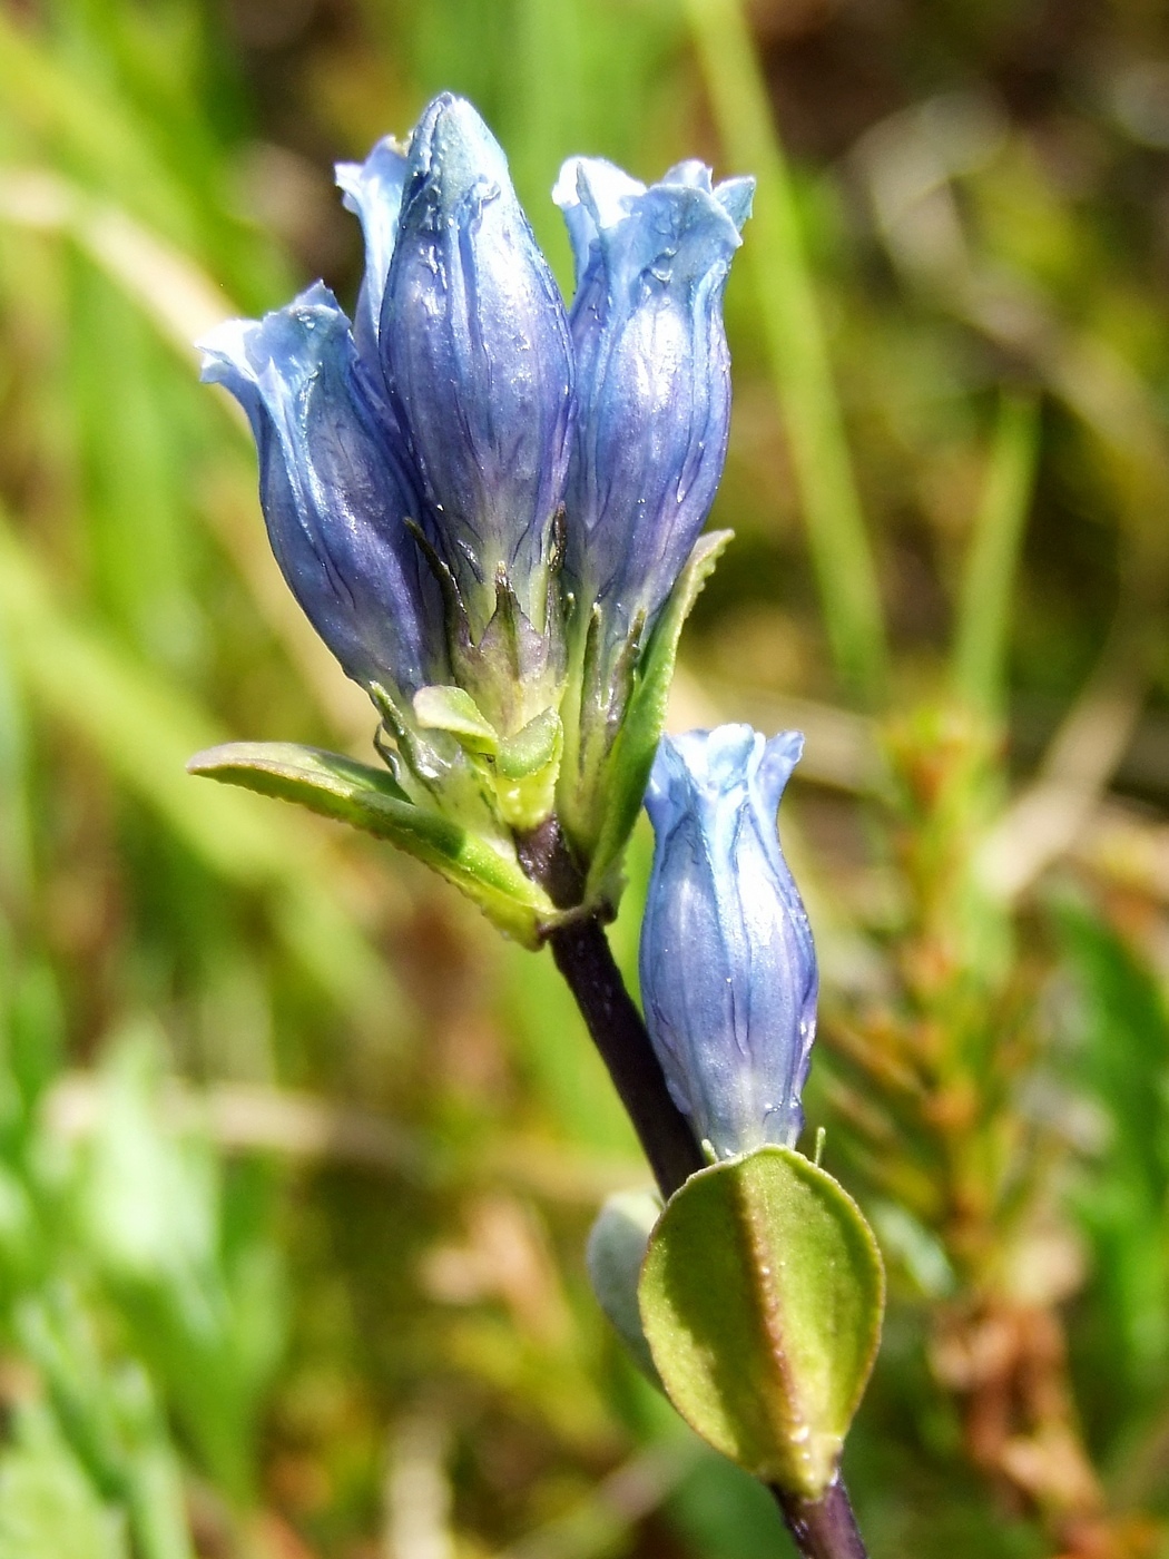
<instances>
[{"instance_id":1,"label":"narrow upright green leaf along right side of the top cluster","mask_svg":"<svg viewBox=\"0 0 1169 1559\"><path fill-rule=\"evenodd\" d=\"M666 728L678 639L703 585L733 535L733 530L712 530L698 538L641 656L620 731L599 786L605 798L605 817L589 864L586 887L589 903L600 900L616 903L620 861L637 822L653 755Z\"/></svg>"}]
</instances>

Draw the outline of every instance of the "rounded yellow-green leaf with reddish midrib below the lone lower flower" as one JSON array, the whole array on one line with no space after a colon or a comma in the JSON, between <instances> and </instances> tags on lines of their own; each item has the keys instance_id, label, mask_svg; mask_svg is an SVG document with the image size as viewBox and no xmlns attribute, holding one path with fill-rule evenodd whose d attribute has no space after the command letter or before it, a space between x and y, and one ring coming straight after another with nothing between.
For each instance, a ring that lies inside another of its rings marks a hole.
<instances>
[{"instance_id":1,"label":"rounded yellow-green leaf with reddish midrib below the lone lower flower","mask_svg":"<svg viewBox=\"0 0 1169 1559\"><path fill-rule=\"evenodd\" d=\"M650 1236L639 1288L678 1412L756 1478L811 1500L835 1476L884 1297L856 1202L787 1147L692 1175Z\"/></svg>"}]
</instances>

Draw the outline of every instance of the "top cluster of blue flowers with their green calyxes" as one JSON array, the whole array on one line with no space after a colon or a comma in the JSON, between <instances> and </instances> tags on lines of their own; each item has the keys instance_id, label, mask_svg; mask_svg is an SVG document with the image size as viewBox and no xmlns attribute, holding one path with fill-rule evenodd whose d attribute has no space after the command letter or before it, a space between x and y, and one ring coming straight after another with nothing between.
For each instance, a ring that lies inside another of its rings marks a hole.
<instances>
[{"instance_id":1,"label":"top cluster of blue flowers with their green calyxes","mask_svg":"<svg viewBox=\"0 0 1169 1559\"><path fill-rule=\"evenodd\" d=\"M469 103L435 98L338 184L365 234L352 326L318 284L212 332L204 377L251 419L276 558L402 795L499 837L556 812L588 868L722 474L753 181L572 159L570 309Z\"/></svg>"}]
</instances>

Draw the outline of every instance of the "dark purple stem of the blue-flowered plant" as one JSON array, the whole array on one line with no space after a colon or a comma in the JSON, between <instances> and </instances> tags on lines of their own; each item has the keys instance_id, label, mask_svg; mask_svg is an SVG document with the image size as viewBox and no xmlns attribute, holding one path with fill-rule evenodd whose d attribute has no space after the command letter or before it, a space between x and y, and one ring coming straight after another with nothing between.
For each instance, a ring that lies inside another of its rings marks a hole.
<instances>
[{"instance_id":1,"label":"dark purple stem of the blue-flowered plant","mask_svg":"<svg viewBox=\"0 0 1169 1559\"><path fill-rule=\"evenodd\" d=\"M555 818L519 840L519 856L524 870L546 889L558 909L580 903L581 878ZM686 1116L670 1098L666 1074L625 988L600 915L584 915L558 926L547 940L633 1121L658 1188L669 1200L697 1169L705 1168L706 1160ZM772 1494L801 1559L867 1559L848 1492L839 1478L820 1500L801 1500L776 1487Z\"/></svg>"}]
</instances>

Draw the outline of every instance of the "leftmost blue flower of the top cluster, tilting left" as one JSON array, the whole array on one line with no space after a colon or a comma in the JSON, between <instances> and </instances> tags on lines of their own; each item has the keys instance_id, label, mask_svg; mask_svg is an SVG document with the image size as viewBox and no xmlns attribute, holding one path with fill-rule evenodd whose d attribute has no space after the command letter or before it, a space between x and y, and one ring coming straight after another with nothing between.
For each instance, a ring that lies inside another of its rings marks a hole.
<instances>
[{"instance_id":1,"label":"leftmost blue flower of the top cluster, tilting left","mask_svg":"<svg viewBox=\"0 0 1169 1559\"><path fill-rule=\"evenodd\" d=\"M440 616L404 525L418 499L360 390L337 299L316 284L200 345L204 380L248 413L268 538L312 625L363 686L443 681Z\"/></svg>"}]
</instances>

